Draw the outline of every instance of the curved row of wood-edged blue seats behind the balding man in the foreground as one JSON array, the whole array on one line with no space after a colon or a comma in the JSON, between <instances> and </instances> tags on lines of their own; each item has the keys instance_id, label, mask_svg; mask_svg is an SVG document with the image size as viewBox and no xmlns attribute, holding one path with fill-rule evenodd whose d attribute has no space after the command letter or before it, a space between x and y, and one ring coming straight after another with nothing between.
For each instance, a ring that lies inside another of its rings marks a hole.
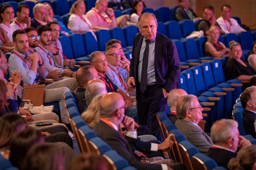
<instances>
[{"instance_id":1,"label":"curved row of wood-edged blue seats behind the balding man in the foreground","mask_svg":"<svg viewBox=\"0 0 256 170\"><path fill-rule=\"evenodd\" d=\"M87 126L79 114L73 92L65 93L64 102L81 153L102 155L110 170L135 170L134 167L129 166L125 158L119 156Z\"/></svg>"}]
</instances>

